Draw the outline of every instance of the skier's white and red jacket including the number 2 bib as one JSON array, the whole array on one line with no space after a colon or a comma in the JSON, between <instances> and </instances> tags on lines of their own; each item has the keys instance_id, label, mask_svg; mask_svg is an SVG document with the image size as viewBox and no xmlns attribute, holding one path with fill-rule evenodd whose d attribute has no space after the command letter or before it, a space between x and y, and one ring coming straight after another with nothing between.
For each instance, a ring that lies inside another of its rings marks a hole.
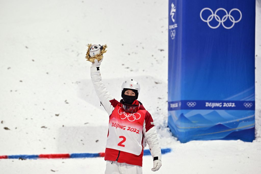
<instances>
[{"instance_id":1,"label":"skier's white and red jacket including the number 2 bib","mask_svg":"<svg viewBox=\"0 0 261 174\"><path fill-rule=\"evenodd\" d=\"M94 89L109 115L109 130L105 160L142 166L143 149L146 143L153 160L161 160L161 147L154 129L153 119L140 103L135 113L126 113L121 103L115 100L102 82L100 70L91 67Z\"/></svg>"}]
</instances>

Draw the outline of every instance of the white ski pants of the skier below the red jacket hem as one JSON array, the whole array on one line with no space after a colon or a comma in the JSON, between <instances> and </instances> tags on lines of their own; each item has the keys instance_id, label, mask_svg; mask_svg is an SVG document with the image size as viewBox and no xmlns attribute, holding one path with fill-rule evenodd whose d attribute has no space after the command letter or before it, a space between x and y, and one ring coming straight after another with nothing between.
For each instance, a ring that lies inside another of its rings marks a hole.
<instances>
[{"instance_id":1,"label":"white ski pants of the skier below the red jacket hem","mask_svg":"<svg viewBox=\"0 0 261 174\"><path fill-rule=\"evenodd\" d=\"M117 161L107 161L105 174L142 174L142 167Z\"/></svg>"}]
</instances>

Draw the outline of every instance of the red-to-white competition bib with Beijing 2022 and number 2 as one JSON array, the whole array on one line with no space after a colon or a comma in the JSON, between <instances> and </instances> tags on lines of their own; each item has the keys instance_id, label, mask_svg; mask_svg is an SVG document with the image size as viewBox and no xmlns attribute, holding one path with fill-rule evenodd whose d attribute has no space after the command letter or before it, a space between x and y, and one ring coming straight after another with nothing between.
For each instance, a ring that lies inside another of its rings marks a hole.
<instances>
[{"instance_id":1,"label":"red-to-white competition bib with Beijing 2022 and number 2","mask_svg":"<svg viewBox=\"0 0 261 174\"><path fill-rule=\"evenodd\" d=\"M118 104L109 119L109 135L106 148L140 155L142 130L146 110L135 113L124 112Z\"/></svg>"}]
</instances>

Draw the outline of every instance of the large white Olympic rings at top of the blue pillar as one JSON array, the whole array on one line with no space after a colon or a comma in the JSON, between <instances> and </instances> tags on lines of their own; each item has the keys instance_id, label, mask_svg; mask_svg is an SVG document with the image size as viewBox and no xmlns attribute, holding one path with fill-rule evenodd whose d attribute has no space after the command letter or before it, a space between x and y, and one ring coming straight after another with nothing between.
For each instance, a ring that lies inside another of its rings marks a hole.
<instances>
[{"instance_id":1,"label":"large white Olympic rings at top of the blue pillar","mask_svg":"<svg viewBox=\"0 0 261 174\"><path fill-rule=\"evenodd\" d=\"M206 20L203 19L203 17L202 17L202 12L203 12L204 10L209 10L209 11L211 12L211 15L209 15L209 17L207 17ZM223 10L223 11L226 13L226 15L224 15L222 18L219 17L219 16L217 15L217 12L218 12L219 10ZM235 21L235 18L231 15L231 12L234 11L234 10L238 11L239 14L240 14L240 18L239 18L237 21ZM212 21L213 17L215 17L215 20L218 22L218 25L217 25L217 26L211 26L211 25L209 24L209 22ZM242 19L242 13L241 13L241 11L240 11L239 9L237 9L237 8L231 9L231 10L229 11L229 13L228 13L227 10L224 9L224 8L218 8L218 9L215 11L215 13L213 13L213 11L212 11L210 8L207 8L207 7L206 7L206 8L203 8L203 9L200 11L200 18L201 18L202 21L207 22L207 25L208 25L210 28L213 28L213 29L218 28L218 27L220 26L220 24L222 23L222 26L223 26L224 28L226 28L226 29L231 29L231 28L235 25L235 23L238 23L238 22ZM232 24L230 27L227 27L227 26L224 25L224 22L227 21L227 19L229 19L231 22L233 22L233 24Z\"/></svg>"}]
</instances>

